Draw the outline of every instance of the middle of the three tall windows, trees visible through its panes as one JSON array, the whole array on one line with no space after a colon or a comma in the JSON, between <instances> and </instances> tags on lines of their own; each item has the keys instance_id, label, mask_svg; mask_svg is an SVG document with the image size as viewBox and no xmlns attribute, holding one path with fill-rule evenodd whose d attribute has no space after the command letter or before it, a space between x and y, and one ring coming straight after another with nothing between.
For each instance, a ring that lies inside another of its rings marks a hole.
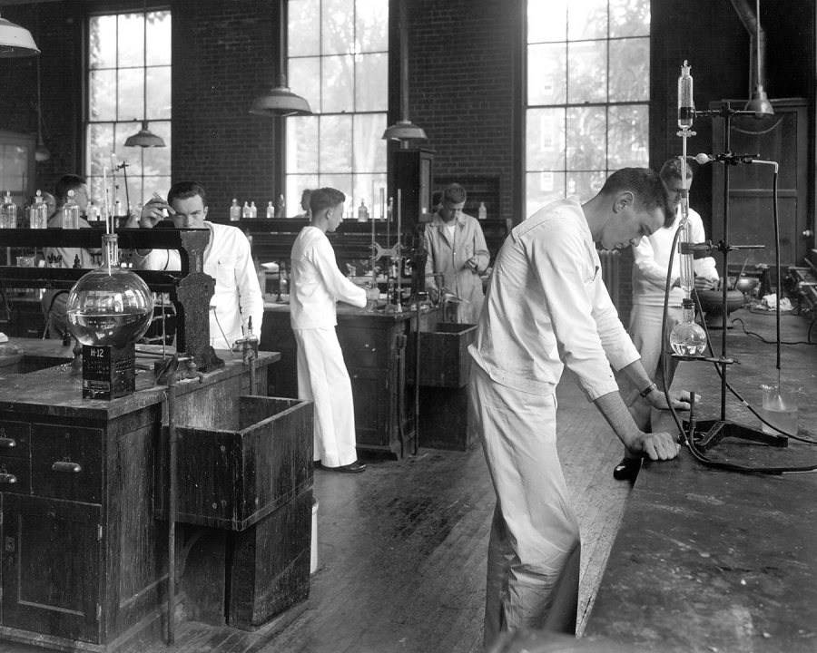
<instances>
[{"instance_id":1,"label":"middle of the three tall windows, trees visible through its panes","mask_svg":"<svg viewBox=\"0 0 817 653\"><path fill-rule=\"evenodd\" d=\"M386 188L389 4L384 0L289 0L290 86L312 115L286 119L286 200L332 186L356 217L361 200L378 216Z\"/></svg>"}]
</instances>

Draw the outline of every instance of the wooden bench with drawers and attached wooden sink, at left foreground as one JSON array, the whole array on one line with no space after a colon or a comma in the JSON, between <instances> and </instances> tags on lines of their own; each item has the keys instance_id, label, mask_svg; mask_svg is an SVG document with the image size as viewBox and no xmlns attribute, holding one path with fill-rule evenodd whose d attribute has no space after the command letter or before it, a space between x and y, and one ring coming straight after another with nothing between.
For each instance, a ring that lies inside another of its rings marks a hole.
<instances>
[{"instance_id":1,"label":"wooden bench with drawers and attached wooden sink, at left foreground","mask_svg":"<svg viewBox=\"0 0 817 653\"><path fill-rule=\"evenodd\" d=\"M59 341L5 346L24 354L0 355L0 638L100 652L161 642L168 404L149 354L162 347L137 346L136 391L102 401L82 397ZM175 614L253 628L309 591L311 404L266 396L279 354L259 353L253 390L241 355L217 354L222 368L174 394Z\"/></svg>"}]
</instances>

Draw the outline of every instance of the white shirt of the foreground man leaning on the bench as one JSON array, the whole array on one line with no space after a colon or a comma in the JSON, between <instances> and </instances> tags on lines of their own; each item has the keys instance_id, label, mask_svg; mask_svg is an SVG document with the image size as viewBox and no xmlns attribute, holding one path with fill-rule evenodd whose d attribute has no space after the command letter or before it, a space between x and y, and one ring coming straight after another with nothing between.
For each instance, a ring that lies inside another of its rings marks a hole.
<instances>
[{"instance_id":1,"label":"white shirt of the foreground man leaning on the bench","mask_svg":"<svg viewBox=\"0 0 817 653\"><path fill-rule=\"evenodd\" d=\"M499 250L477 338L468 348L500 385L550 395L567 369L589 399L615 392L610 365L639 358L601 277L576 198L515 227Z\"/></svg>"}]
</instances>

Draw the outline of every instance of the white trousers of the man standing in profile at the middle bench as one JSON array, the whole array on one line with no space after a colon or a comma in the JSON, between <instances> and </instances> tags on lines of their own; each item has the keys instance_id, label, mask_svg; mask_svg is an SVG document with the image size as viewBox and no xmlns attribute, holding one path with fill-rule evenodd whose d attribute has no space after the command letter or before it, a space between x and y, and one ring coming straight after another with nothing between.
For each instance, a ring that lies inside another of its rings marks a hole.
<instances>
[{"instance_id":1,"label":"white trousers of the man standing in profile at the middle bench","mask_svg":"<svg viewBox=\"0 0 817 653\"><path fill-rule=\"evenodd\" d=\"M315 403L314 459L327 467L354 463L355 408L335 327L295 329L298 398Z\"/></svg>"}]
</instances>

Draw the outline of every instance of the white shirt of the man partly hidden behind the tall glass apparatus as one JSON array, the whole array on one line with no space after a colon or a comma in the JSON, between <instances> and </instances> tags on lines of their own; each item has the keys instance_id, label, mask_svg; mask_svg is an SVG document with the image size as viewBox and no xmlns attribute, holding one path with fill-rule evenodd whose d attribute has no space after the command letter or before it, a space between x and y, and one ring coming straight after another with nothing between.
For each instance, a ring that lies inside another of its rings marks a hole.
<instances>
[{"instance_id":1,"label":"white shirt of the man partly hidden behind the tall glass apparatus","mask_svg":"<svg viewBox=\"0 0 817 653\"><path fill-rule=\"evenodd\" d=\"M681 222L681 207L675 212L671 227L657 229L650 237L641 239L638 247L633 248L633 303L643 306L664 306L664 289L670 251L673 246L675 231ZM689 210L689 226L693 242L704 242L704 221L692 209ZM695 276L718 280L718 271L712 257L694 259ZM681 256L675 252L673 273L670 284L681 277ZM681 306L684 291L681 288L670 290L670 306Z\"/></svg>"}]
</instances>

